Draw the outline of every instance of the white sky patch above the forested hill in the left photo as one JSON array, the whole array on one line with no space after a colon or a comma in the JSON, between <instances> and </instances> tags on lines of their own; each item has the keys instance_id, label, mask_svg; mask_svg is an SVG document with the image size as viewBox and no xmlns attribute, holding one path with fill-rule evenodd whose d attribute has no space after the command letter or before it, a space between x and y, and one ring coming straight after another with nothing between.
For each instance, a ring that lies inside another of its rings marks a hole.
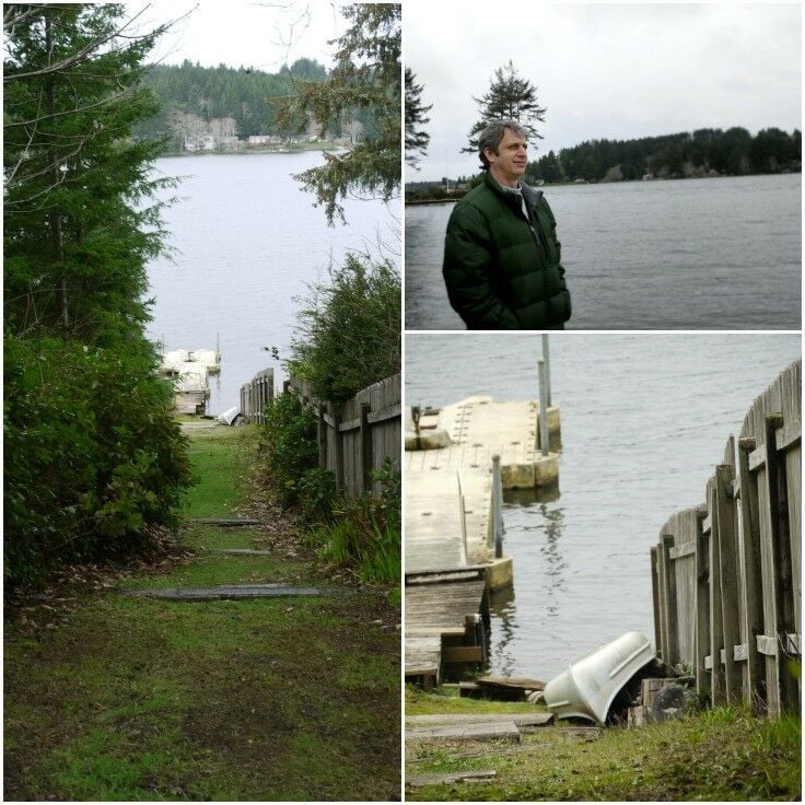
<instances>
[{"instance_id":1,"label":"white sky patch above the forested hill in the left photo","mask_svg":"<svg viewBox=\"0 0 805 805\"><path fill-rule=\"evenodd\" d=\"M298 58L332 67L328 45L345 30L337 8L326 0L154 0L128 2L130 12L143 11L138 23L164 22L187 15L162 37L151 56L167 65L184 59L203 67L253 67L277 72ZM195 9L195 11L192 10Z\"/></svg>"}]
</instances>

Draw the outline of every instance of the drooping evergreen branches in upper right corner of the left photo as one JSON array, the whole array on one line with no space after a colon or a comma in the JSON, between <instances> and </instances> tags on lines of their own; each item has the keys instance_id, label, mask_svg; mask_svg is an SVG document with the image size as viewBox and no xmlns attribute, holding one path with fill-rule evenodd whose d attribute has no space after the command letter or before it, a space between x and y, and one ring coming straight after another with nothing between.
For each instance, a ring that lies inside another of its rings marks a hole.
<instances>
[{"instance_id":1,"label":"drooping evergreen branches in upper right corner of the left photo","mask_svg":"<svg viewBox=\"0 0 805 805\"><path fill-rule=\"evenodd\" d=\"M349 153L326 154L326 163L296 176L325 208L328 223L343 221L339 200L348 192L388 200L400 185L400 5L355 3L341 9L351 23L336 40L337 67L324 82L296 82L298 94L285 98L279 124L312 116L324 129L328 120L368 113L365 139Z\"/></svg>"}]
</instances>

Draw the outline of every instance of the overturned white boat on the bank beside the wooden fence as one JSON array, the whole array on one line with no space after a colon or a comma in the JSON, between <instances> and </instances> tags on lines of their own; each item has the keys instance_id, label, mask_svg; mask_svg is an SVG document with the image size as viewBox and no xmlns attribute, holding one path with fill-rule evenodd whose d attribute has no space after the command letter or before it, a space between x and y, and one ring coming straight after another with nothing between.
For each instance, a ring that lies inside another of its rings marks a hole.
<instances>
[{"instance_id":1,"label":"overturned white boat on the bank beside the wooden fence","mask_svg":"<svg viewBox=\"0 0 805 805\"><path fill-rule=\"evenodd\" d=\"M558 719L603 724L615 697L655 658L642 632L627 632L573 663L545 686L545 703Z\"/></svg>"}]
</instances>

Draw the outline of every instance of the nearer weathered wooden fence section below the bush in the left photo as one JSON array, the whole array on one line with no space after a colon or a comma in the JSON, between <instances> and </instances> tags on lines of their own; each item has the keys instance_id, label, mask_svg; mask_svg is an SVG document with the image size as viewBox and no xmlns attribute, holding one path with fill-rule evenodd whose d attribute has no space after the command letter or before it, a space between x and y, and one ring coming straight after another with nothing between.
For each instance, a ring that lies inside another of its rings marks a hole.
<instances>
[{"instance_id":1,"label":"nearer weathered wooden fence section below the bush in the left photo","mask_svg":"<svg viewBox=\"0 0 805 805\"><path fill-rule=\"evenodd\" d=\"M336 488L348 497L381 491L371 474L386 457L400 468L401 394L400 375L375 383L337 406L311 394L306 383L291 377L285 383L318 418L318 464L336 476Z\"/></svg>"}]
</instances>

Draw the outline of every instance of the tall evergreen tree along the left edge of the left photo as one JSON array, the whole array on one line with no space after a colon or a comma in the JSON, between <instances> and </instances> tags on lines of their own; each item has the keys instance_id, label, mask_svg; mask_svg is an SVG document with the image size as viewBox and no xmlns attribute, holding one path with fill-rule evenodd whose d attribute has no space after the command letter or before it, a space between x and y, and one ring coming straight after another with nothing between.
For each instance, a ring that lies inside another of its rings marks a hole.
<instances>
[{"instance_id":1,"label":"tall evergreen tree along the left edge of the left photo","mask_svg":"<svg viewBox=\"0 0 805 805\"><path fill-rule=\"evenodd\" d=\"M58 326L101 342L139 336L148 318L145 262L162 230L145 199L160 145L129 135L156 110L138 82L161 31L118 37L124 11L31 7L7 40L7 331Z\"/></svg>"}]
</instances>

